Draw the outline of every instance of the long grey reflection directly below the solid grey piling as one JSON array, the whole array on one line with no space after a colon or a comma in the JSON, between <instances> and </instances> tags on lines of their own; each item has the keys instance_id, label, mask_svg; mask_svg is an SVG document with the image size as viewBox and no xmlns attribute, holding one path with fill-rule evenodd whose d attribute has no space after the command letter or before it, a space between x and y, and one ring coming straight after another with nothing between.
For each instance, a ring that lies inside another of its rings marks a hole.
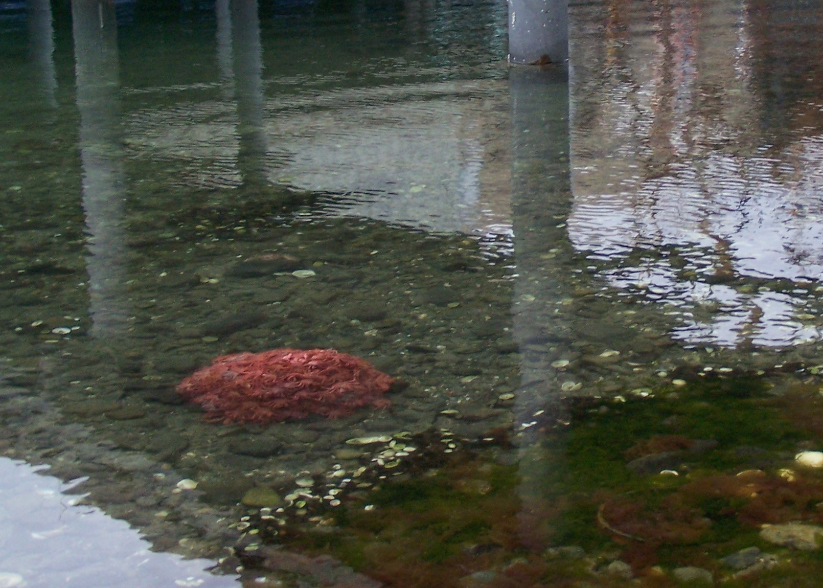
<instances>
[{"instance_id":1,"label":"long grey reflection directly below the solid grey piling","mask_svg":"<svg viewBox=\"0 0 823 588\"><path fill-rule=\"evenodd\" d=\"M551 365L562 356L572 328L570 317L557 313L572 290L560 263L568 254L562 221L571 195L567 75L565 66L509 70L517 267L512 329L521 357L513 435L519 448L518 520L526 545L534 544L531 535L545 516L540 505L546 501L546 473L563 467L559 460L541 459L536 446L546 428L563 427L567 415L562 397L581 386L565 385L564 374ZM559 447L553 449L560 455Z\"/></svg>"}]
</instances>

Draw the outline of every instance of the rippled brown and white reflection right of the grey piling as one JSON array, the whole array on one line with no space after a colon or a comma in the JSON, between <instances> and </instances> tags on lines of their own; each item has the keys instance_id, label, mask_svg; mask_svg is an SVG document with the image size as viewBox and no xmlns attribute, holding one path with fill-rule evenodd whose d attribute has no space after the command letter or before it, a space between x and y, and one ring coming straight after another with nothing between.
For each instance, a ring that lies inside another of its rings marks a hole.
<instances>
[{"instance_id":1,"label":"rippled brown and white reflection right of the grey piling","mask_svg":"<svg viewBox=\"0 0 823 588\"><path fill-rule=\"evenodd\" d=\"M775 105L759 79L786 59L808 69L772 46L762 15L813 9L607 3L579 12L603 9L606 34L575 40L575 247L607 262L600 271L611 285L677 313L677 338L818 340L809 286L823 269L820 128L781 133L773 123L777 112L811 123L815 103L787 96ZM802 28L813 35L815 23Z\"/></svg>"}]
</instances>

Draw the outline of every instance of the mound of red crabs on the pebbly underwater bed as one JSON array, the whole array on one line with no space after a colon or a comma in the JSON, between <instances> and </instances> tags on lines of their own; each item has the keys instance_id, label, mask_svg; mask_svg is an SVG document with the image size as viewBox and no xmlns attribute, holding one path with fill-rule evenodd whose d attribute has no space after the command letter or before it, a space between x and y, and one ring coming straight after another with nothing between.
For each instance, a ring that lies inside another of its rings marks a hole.
<instances>
[{"instance_id":1,"label":"mound of red crabs on the pebbly underwater bed","mask_svg":"<svg viewBox=\"0 0 823 588\"><path fill-rule=\"evenodd\" d=\"M388 407L394 379L334 349L273 349L216 357L177 386L212 422L281 422L319 414L336 418L355 408Z\"/></svg>"}]
</instances>

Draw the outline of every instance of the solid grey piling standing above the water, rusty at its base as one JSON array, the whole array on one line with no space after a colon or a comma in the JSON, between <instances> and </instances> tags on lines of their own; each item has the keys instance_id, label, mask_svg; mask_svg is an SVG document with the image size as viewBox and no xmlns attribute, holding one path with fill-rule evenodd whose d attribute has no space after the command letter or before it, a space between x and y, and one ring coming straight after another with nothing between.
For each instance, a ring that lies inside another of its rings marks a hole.
<instances>
[{"instance_id":1,"label":"solid grey piling standing above the water, rusty at its base","mask_svg":"<svg viewBox=\"0 0 823 588\"><path fill-rule=\"evenodd\" d=\"M569 58L569 0L508 0L509 62L546 64Z\"/></svg>"}]
</instances>

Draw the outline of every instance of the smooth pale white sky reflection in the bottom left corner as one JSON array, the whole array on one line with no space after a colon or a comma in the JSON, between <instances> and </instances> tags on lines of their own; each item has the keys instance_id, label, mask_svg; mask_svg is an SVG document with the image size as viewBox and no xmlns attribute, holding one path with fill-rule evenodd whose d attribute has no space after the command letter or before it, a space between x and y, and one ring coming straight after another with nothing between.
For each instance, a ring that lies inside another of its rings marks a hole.
<instances>
[{"instance_id":1,"label":"smooth pale white sky reflection in the bottom left corner","mask_svg":"<svg viewBox=\"0 0 823 588\"><path fill-rule=\"evenodd\" d=\"M2 586L237 586L204 572L208 560L152 553L122 520L67 494L81 480L61 483L44 470L0 459Z\"/></svg>"}]
</instances>

